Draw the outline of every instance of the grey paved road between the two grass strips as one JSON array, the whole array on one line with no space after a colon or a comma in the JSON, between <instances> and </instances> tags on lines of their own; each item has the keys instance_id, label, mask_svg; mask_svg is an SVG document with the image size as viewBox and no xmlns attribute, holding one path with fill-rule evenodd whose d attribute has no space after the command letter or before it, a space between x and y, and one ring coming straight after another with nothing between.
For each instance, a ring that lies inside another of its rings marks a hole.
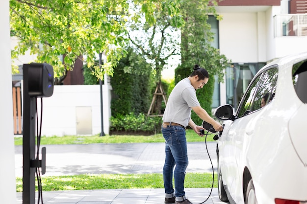
<instances>
[{"instance_id":1,"label":"grey paved road between the two grass strips","mask_svg":"<svg viewBox=\"0 0 307 204\"><path fill-rule=\"evenodd\" d=\"M216 172L215 142L207 147ZM46 147L45 176L77 174L162 173L164 143L42 145ZM187 172L212 172L205 142L188 143ZM23 175L22 146L15 146L16 176Z\"/></svg>"}]
</instances>

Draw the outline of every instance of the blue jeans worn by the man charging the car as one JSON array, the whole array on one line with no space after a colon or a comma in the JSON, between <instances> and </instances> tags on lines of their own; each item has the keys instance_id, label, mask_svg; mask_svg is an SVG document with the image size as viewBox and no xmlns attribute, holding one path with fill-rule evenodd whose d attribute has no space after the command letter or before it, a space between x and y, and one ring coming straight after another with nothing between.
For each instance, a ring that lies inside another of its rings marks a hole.
<instances>
[{"instance_id":1,"label":"blue jeans worn by the man charging the car","mask_svg":"<svg viewBox=\"0 0 307 204\"><path fill-rule=\"evenodd\" d=\"M183 197L185 170L188 166L185 129L180 126L167 126L163 128L162 135L165 139L165 163L163 167L163 181L166 194L174 194L173 171L175 181L175 196ZM185 196L184 196L185 197ZM183 197L183 198L184 198ZM184 199L183 199L184 200Z\"/></svg>"}]
</instances>

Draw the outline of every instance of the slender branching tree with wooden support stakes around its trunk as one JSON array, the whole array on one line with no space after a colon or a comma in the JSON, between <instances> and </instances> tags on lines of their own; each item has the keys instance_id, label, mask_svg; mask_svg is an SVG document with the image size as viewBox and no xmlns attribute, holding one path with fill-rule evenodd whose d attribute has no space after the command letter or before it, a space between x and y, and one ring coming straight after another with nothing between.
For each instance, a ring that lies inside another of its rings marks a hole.
<instances>
[{"instance_id":1,"label":"slender branching tree with wooden support stakes around its trunk","mask_svg":"<svg viewBox=\"0 0 307 204\"><path fill-rule=\"evenodd\" d=\"M137 11L138 8L134 10ZM150 110L149 113L161 114L163 95L159 94L164 94L161 86L161 72L168 65L170 57L180 54L180 32L176 26L180 26L182 22L174 22L174 18L164 10L155 10L154 13L156 21L153 25L142 21L141 15L131 18L128 35L132 46L151 65L155 76L156 91L159 93L153 96L151 105L153 110ZM142 69L135 70L129 67L127 71L140 72ZM156 100L154 100L155 98Z\"/></svg>"}]
</instances>

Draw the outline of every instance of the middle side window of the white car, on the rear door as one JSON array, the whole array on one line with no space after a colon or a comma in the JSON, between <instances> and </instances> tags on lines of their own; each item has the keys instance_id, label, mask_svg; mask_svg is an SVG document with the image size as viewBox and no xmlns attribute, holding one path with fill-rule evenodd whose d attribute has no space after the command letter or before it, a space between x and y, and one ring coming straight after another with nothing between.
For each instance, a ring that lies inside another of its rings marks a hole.
<instances>
[{"instance_id":1,"label":"middle side window of the white car, on the rear door","mask_svg":"<svg viewBox=\"0 0 307 204\"><path fill-rule=\"evenodd\" d=\"M256 111L273 100L276 90L278 69L271 68L263 73L259 88L255 94L250 111Z\"/></svg>"}]
</instances>

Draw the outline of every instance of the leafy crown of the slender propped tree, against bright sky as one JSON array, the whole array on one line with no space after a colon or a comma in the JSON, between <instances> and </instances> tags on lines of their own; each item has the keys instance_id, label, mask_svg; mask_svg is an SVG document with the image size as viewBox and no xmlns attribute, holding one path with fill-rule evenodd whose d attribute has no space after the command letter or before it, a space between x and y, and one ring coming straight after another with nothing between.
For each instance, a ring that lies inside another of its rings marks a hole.
<instances>
[{"instance_id":1,"label":"leafy crown of the slender propped tree, against bright sky","mask_svg":"<svg viewBox=\"0 0 307 204\"><path fill-rule=\"evenodd\" d=\"M161 71L167 65L168 59L173 55L180 54L180 32L177 24L173 23L176 17L169 15L169 13L178 13L179 6L177 1L170 1L169 4L163 4L163 8L167 9L150 7L155 13L154 22L144 22L139 18L137 21L131 19L127 23L131 46L141 53L142 57L151 65L150 68L153 70L157 84L161 81ZM148 4L143 4L141 10L135 7L134 11L141 17L139 12L144 12L148 8Z\"/></svg>"}]
</instances>

